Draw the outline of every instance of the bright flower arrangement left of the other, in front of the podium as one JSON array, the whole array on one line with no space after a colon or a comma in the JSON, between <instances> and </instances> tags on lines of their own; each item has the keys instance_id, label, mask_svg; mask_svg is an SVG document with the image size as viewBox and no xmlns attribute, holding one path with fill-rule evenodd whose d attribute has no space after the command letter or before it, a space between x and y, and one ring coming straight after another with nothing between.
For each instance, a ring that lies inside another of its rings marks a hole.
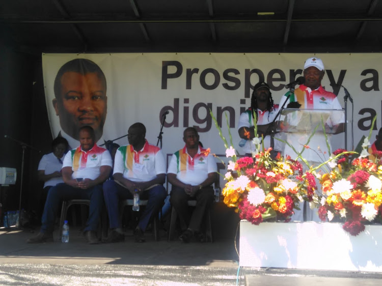
<instances>
[{"instance_id":1,"label":"bright flower arrangement left of the other, in front of the podium","mask_svg":"<svg viewBox=\"0 0 382 286\"><path fill-rule=\"evenodd\" d=\"M232 159L224 176L227 180L222 191L224 203L236 208L241 219L256 225L271 218L290 221L294 209L299 210L299 202L313 199L317 188L314 176L309 172L304 174L301 163L290 157L284 159L278 154L272 159L272 149L261 148L262 138L259 137L252 139L256 146L256 150L252 151L253 157L237 159L231 134L231 144L228 145L212 112L210 114L224 141L226 156ZM254 128L257 134L256 124ZM248 130L244 135L250 137Z\"/></svg>"}]
</instances>

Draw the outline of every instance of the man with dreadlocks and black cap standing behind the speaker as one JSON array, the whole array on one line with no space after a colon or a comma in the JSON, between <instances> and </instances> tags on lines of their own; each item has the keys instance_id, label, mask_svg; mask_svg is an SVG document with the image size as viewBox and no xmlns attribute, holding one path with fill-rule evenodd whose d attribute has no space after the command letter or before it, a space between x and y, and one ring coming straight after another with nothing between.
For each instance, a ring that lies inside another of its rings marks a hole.
<instances>
[{"instance_id":1,"label":"man with dreadlocks and black cap standing behind the speaker","mask_svg":"<svg viewBox=\"0 0 382 286\"><path fill-rule=\"evenodd\" d=\"M268 128L277 114L278 106L274 104L269 86L264 81L256 83L252 98L251 107L241 113L239 119L239 136L242 138L239 146L245 152L245 156L252 157L255 151L252 139L254 137L264 137L265 150L270 147L270 129ZM257 134L254 129L254 115L257 121ZM276 141L276 140L275 140Z\"/></svg>"}]
</instances>

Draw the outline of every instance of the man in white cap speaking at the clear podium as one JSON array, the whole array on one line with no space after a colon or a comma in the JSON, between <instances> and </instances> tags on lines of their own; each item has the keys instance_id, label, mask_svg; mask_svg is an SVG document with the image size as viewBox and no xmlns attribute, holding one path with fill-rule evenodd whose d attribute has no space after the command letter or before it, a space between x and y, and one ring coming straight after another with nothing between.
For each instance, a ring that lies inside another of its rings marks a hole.
<instances>
[{"instance_id":1,"label":"man in white cap speaking at the clear podium","mask_svg":"<svg viewBox=\"0 0 382 286\"><path fill-rule=\"evenodd\" d=\"M325 69L321 59L314 57L306 60L303 74L305 78L304 84L300 84L299 87L295 89L294 93L290 91L287 92L281 98L279 106L284 106L284 108L342 110L337 96L334 93L323 89L321 80L324 74ZM332 128L332 133L337 134L344 131L344 122L345 118L343 112L332 112L330 118L325 122L325 125ZM311 132L287 133L287 142L293 146L297 152L301 152L304 146L306 146L310 136ZM330 144L329 134L328 141ZM305 158L310 165L317 166L319 163L322 163L324 159L329 158L330 154L328 154L329 152L326 147L325 136L322 132L316 132L311 138L308 146L306 146L302 157ZM292 159L296 159L297 157L297 154L288 146L288 144L285 145L284 149L284 156L287 155L289 155ZM302 204L300 207L303 210ZM316 210L315 213L317 213ZM318 216L313 214L313 212L309 210L309 206L307 206L306 217L304 217L304 219L318 221ZM292 216L292 220L302 221L303 212L295 211L295 214Z\"/></svg>"}]
</instances>

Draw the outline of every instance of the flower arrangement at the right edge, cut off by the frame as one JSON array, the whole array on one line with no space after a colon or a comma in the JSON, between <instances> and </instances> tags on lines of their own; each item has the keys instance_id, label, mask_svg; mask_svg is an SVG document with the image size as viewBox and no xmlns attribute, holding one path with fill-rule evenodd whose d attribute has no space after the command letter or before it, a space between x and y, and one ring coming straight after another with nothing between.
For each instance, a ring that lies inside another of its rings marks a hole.
<instances>
[{"instance_id":1,"label":"flower arrangement at the right edge, cut off by the frame","mask_svg":"<svg viewBox=\"0 0 382 286\"><path fill-rule=\"evenodd\" d=\"M353 236L363 232L365 223L382 213L382 152L373 154L374 162L367 158L370 136L371 130L359 157L343 149L334 151L328 161L331 171L320 179L323 194L320 219L345 220L343 229Z\"/></svg>"}]
</instances>

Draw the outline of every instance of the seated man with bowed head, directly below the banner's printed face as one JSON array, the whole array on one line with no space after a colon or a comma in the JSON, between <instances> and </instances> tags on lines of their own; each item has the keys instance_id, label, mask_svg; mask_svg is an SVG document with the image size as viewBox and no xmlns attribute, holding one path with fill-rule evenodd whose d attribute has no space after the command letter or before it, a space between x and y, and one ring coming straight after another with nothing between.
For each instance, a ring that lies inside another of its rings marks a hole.
<instances>
[{"instance_id":1,"label":"seated man with bowed head, directly below the banner's printed face","mask_svg":"<svg viewBox=\"0 0 382 286\"><path fill-rule=\"evenodd\" d=\"M62 201L90 199L89 218L85 235L89 244L97 244L97 228L103 205L102 183L112 168L110 153L95 144L94 130L90 126L79 129L80 146L69 151L63 161L64 183L50 188L41 219L40 233L27 243L53 241L53 224Z\"/></svg>"}]
</instances>

